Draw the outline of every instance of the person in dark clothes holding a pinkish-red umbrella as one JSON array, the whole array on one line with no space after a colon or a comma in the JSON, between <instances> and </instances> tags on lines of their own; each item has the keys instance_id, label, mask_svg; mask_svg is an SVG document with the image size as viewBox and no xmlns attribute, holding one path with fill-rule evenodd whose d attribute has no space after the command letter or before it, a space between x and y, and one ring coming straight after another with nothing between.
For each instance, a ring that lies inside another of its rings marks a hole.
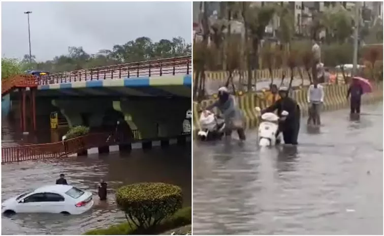
<instances>
[{"instance_id":1,"label":"person in dark clothes holding a pinkish-red umbrella","mask_svg":"<svg viewBox=\"0 0 384 236\"><path fill-rule=\"evenodd\" d=\"M372 86L367 79L353 77L348 88L346 98L350 95L350 114L360 114L361 96L364 93L372 92Z\"/></svg>"}]
</instances>

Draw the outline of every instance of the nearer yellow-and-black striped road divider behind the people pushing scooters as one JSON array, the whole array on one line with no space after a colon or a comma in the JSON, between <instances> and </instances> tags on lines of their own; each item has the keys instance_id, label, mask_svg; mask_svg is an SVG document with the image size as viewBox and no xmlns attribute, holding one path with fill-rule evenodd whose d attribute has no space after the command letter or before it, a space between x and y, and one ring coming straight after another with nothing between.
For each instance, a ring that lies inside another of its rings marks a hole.
<instances>
[{"instance_id":1,"label":"nearer yellow-and-black striped road divider behind the people pushing scooters","mask_svg":"<svg viewBox=\"0 0 384 236\"><path fill-rule=\"evenodd\" d=\"M373 104L382 101L383 85L382 83L373 84L373 91L362 96L363 104ZM301 115L308 115L308 102L307 102L308 88L296 89L290 93L299 104ZM324 85L324 111L335 111L349 106L349 100L346 98L348 85L329 84ZM200 129L200 112L203 111L210 104L214 103L216 99L202 100L200 103L194 102L194 132ZM252 128L259 124L259 116L254 110L255 107L262 109L267 107L267 102L262 95L262 92L245 93L242 96L236 97L239 108L244 115L244 124L246 128ZM218 112L218 111L215 111Z\"/></svg>"}]
</instances>

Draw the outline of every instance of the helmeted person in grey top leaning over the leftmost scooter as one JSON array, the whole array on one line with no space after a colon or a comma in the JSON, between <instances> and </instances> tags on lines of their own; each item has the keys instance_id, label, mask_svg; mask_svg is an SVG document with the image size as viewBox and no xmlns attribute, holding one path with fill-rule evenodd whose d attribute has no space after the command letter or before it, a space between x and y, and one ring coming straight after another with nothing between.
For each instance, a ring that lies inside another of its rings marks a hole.
<instances>
[{"instance_id":1,"label":"helmeted person in grey top leaning over the leftmost scooter","mask_svg":"<svg viewBox=\"0 0 384 236\"><path fill-rule=\"evenodd\" d=\"M226 122L226 136L231 136L232 130L236 129L239 134L239 139L245 140L245 131L243 128L242 114L235 103L235 98L231 96L227 87L220 87L218 89L218 99L215 103L208 106L206 110L212 110L217 107ZM207 114L205 114L207 115Z\"/></svg>"}]
</instances>

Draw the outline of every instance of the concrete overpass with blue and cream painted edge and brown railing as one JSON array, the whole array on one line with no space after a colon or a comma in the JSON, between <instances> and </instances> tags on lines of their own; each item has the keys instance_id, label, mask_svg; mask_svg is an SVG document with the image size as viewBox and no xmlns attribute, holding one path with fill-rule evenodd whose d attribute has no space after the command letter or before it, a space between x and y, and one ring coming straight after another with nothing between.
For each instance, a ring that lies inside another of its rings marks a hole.
<instances>
[{"instance_id":1,"label":"concrete overpass with blue and cream painted edge and brown railing","mask_svg":"<svg viewBox=\"0 0 384 236\"><path fill-rule=\"evenodd\" d=\"M119 120L141 139L171 137L183 131L191 109L191 73L190 56L124 63L3 79L2 96L10 94L23 131L49 126L50 113L57 111L70 127Z\"/></svg>"}]
</instances>

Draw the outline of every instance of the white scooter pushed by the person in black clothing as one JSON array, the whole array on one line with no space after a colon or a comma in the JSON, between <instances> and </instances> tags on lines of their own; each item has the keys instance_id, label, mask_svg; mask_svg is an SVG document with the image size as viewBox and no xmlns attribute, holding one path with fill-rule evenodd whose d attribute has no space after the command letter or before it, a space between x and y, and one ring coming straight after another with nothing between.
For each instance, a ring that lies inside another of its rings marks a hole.
<instances>
[{"instance_id":1,"label":"white scooter pushed by the person in black clothing","mask_svg":"<svg viewBox=\"0 0 384 236\"><path fill-rule=\"evenodd\" d=\"M254 108L256 112L261 113L260 107ZM287 111L282 111L282 116L287 116L289 113ZM261 123L259 125L259 146L275 146L276 143L279 143L280 138L276 137L276 133L279 129L278 121L279 117L272 112L267 112L261 115Z\"/></svg>"}]
</instances>

